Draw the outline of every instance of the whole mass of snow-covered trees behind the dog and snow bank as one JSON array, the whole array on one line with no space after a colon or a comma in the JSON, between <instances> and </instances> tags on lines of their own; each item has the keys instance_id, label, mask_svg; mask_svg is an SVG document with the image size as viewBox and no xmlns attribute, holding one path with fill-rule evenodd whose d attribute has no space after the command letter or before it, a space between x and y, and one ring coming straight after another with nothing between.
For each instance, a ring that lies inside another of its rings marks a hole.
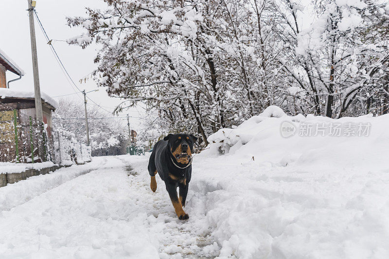
<instances>
[{"instance_id":1,"label":"whole mass of snow-covered trees behind the dog and snow bank","mask_svg":"<svg viewBox=\"0 0 389 259\"><path fill-rule=\"evenodd\" d=\"M388 70L385 2L105 2L104 10L68 17L86 29L70 44L102 46L97 84L124 98L117 111L143 102L162 129L198 133L205 145L209 134L269 105L293 114L364 113Z\"/></svg>"}]
</instances>

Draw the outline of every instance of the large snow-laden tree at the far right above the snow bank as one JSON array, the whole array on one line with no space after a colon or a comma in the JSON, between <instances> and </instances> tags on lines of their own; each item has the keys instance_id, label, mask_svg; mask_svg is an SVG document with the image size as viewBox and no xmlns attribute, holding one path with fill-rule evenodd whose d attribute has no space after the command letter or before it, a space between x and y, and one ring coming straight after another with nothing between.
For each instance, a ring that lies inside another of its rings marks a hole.
<instances>
[{"instance_id":1,"label":"large snow-laden tree at the far right above the snow bank","mask_svg":"<svg viewBox=\"0 0 389 259\"><path fill-rule=\"evenodd\" d=\"M290 47L280 62L298 93L299 112L327 117L362 114L365 109L359 107L366 105L366 92L389 72L384 33L388 4L360 0L312 4L314 20L304 30L299 26L301 5L284 0L279 6L283 19L278 30Z\"/></svg>"}]
</instances>

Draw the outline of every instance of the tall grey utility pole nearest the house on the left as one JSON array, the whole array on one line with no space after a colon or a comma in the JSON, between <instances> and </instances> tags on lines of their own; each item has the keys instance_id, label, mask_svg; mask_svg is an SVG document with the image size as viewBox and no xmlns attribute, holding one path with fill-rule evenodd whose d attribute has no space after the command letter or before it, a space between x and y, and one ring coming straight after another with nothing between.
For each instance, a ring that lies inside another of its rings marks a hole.
<instances>
[{"instance_id":1,"label":"tall grey utility pole nearest the house on the left","mask_svg":"<svg viewBox=\"0 0 389 259\"><path fill-rule=\"evenodd\" d=\"M30 19L31 53L33 57L34 90L35 90L35 117L38 122L43 122L42 99L40 97L38 56L36 54L34 9L36 1L28 0L28 16Z\"/></svg>"}]
</instances>

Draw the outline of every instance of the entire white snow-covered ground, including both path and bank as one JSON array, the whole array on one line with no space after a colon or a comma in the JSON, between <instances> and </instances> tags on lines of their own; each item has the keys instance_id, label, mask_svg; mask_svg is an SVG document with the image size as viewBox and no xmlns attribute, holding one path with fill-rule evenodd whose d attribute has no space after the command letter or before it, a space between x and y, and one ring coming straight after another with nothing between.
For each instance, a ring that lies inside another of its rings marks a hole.
<instances>
[{"instance_id":1,"label":"entire white snow-covered ground, including both path and bank","mask_svg":"<svg viewBox=\"0 0 389 259\"><path fill-rule=\"evenodd\" d=\"M326 130L299 136L310 123ZM332 123L341 136L329 135ZM343 136L348 123L369 132ZM294 135L283 138L282 125ZM34 176L0 188L0 197L22 193L0 200L0 258L387 259L387 126L388 115L332 120L270 107L223 129L194 156L187 221L159 177L150 190L147 155Z\"/></svg>"}]
</instances>

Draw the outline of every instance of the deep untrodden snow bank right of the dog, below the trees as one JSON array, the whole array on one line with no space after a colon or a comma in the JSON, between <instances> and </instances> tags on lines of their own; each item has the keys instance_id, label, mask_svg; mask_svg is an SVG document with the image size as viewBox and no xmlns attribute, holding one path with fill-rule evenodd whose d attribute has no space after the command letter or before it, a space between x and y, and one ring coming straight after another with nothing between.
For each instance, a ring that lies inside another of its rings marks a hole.
<instances>
[{"instance_id":1,"label":"deep untrodden snow bank right of the dog, below the trees","mask_svg":"<svg viewBox=\"0 0 389 259\"><path fill-rule=\"evenodd\" d=\"M290 117L271 106L211 135L189 190L205 195L218 258L389 258L388 126L389 115Z\"/></svg>"}]
</instances>

